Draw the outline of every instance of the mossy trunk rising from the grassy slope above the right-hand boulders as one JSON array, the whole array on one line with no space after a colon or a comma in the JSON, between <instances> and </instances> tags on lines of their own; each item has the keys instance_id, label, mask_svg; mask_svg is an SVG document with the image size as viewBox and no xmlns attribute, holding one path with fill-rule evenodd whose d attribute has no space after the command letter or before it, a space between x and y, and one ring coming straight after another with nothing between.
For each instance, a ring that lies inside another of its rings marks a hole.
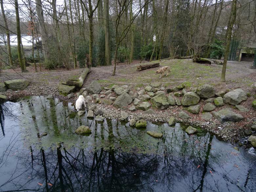
<instances>
[{"instance_id":1,"label":"mossy trunk rising from the grassy slope above the right-hand boulders","mask_svg":"<svg viewBox=\"0 0 256 192\"><path fill-rule=\"evenodd\" d=\"M225 81L227 57L228 57L228 53L229 53L231 34L232 34L232 29L233 29L233 26L234 26L234 23L236 20L236 2L237 2L237 0L232 1L232 12L230 13L231 19L230 19L230 23L227 28L226 48L225 48L225 53L224 53L223 66L222 66L221 81Z\"/></svg>"}]
</instances>

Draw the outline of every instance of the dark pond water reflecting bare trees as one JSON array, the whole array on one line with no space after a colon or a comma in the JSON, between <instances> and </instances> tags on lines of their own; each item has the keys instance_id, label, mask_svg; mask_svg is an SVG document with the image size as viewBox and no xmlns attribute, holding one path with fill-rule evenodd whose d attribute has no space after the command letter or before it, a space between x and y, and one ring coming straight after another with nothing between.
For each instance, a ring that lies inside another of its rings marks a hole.
<instances>
[{"instance_id":1,"label":"dark pond water reflecting bare trees","mask_svg":"<svg viewBox=\"0 0 256 192\"><path fill-rule=\"evenodd\" d=\"M187 127L95 122L43 96L0 106L0 191L256 191L256 155ZM80 125L90 136L74 133ZM146 131L163 133L154 139ZM47 132L48 135L41 137Z\"/></svg>"}]
</instances>

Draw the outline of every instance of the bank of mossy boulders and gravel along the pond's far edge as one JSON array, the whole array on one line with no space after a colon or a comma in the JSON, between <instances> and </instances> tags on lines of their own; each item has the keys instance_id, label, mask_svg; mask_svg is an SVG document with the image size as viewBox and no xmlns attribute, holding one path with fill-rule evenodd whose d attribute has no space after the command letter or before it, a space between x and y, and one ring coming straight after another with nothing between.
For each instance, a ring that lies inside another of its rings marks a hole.
<instances>
[{"instance_id":1,"label":"bank of mossy boulders and gravel along the pond's far edge","mask_svg":"<svg viewBox=\"0 0 256 192\"><path fill-rule=\"evenodd\" d=\"M88 103L87 117L95 117L97 121L103 121L103 117L117 118L128 120L131 126L137 126L139 122L137 127L146 126L143 120L168 122L170 126L183 122L194 126L190 128L201 127L232 143L251 135L249 140L252 140L256 131L256 120L251 120L247 115L250 113L253 117L254 110L242 106L247 99L243 89L226 93L216 92L214 87L207 84L187 89L184 84L164 88L160 83L151 83L134 90L128 85L102 88L93 81L76 94L79 95L83 95ZM68 95L69 98L73 96ZM238 126L239 122L249 120L249 129ZM191 130L187 133L191 133Z\"/></svg>"}]
</instances>

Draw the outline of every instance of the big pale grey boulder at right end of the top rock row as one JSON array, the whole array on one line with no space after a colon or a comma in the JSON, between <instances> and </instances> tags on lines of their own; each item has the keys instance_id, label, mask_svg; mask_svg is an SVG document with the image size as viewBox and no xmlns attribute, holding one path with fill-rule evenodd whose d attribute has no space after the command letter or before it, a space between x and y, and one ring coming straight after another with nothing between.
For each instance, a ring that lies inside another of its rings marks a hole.
<instances>
[{"instance_id":1,"label":"big pale grey boulder at right end of the top rock row","mask_svg":"<svg viewBox=\"0 0 256 192\"><path fill-rule=\"evenodd\" d=\"M246 99L247 96L243 89L235 89L234 91L230 91L223 96L224 102L230 105L238 105Z\"/></svg>"}]
</instances>

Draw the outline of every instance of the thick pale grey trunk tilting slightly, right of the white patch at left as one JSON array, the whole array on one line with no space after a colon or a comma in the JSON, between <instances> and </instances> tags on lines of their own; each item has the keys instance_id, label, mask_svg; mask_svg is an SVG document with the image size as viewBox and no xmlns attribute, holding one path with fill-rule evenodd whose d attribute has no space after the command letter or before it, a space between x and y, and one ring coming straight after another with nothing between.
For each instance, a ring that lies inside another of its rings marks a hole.
<instances>
[{"instance_id":1,"label":"thick pale grey trunk tilting slightly, right of the white patch at left","mask_svg":"<svg viewBox=\"0 0 256 192\"><path fill-rule=\"evenodd\" d=\"M45 63L48 62L50 55L49 55L49 48L48 48L48 33L46 30L46 24L44 22L44 13L42 8L41 0L35 0L36 4L36 13L39 21L39 30L42 35L42 45L44 51L44 61Z\"/></svg>"}]
</instances>

